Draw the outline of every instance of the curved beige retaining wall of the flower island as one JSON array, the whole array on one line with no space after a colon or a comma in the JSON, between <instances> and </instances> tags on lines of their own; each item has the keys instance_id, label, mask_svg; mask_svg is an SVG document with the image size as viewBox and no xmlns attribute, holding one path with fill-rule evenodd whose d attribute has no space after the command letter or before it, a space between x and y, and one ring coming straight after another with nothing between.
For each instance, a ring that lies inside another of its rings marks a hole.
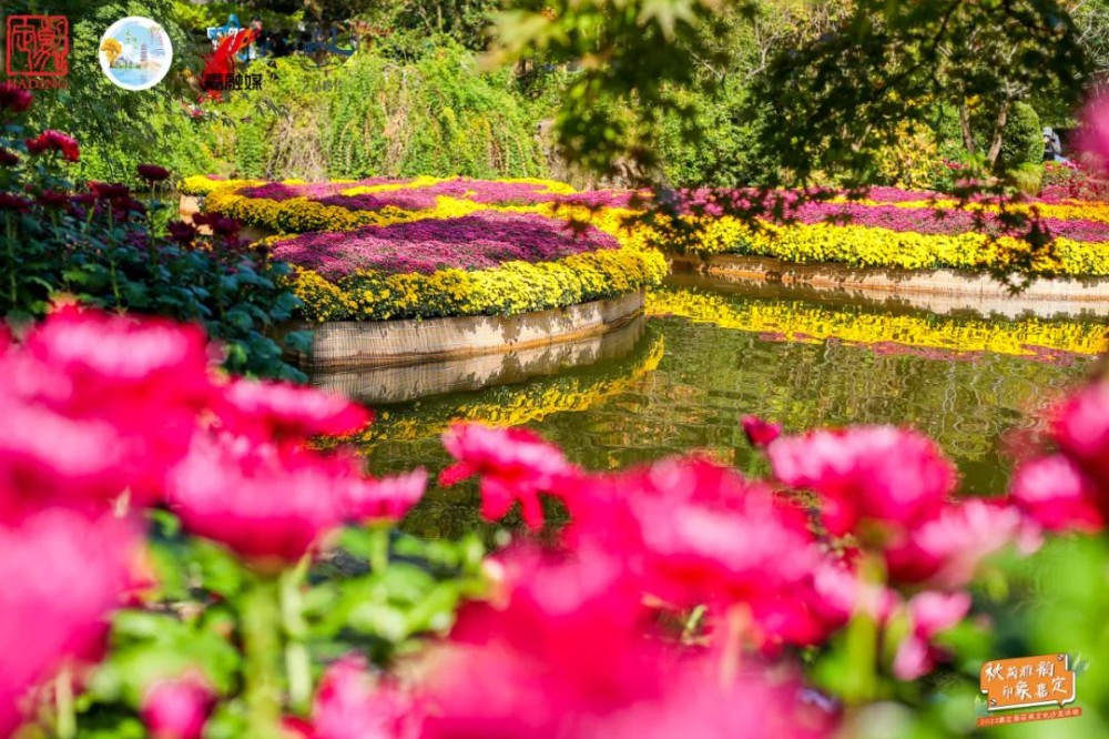
<instances>
[{"instance_id":1,"label":"curved beige retaining wall of the flower island","mask_svg":"<svg viewBox=\"0 0 1109 739\"><path fill-rule=\"evenodd\" d=\"M643 291L564 308L520 315L405 321L291 323L314 332L311 353L296 353L305 370L354 370L503 354L597 336L643 312Z\"/></svg>"}]
</instances>

